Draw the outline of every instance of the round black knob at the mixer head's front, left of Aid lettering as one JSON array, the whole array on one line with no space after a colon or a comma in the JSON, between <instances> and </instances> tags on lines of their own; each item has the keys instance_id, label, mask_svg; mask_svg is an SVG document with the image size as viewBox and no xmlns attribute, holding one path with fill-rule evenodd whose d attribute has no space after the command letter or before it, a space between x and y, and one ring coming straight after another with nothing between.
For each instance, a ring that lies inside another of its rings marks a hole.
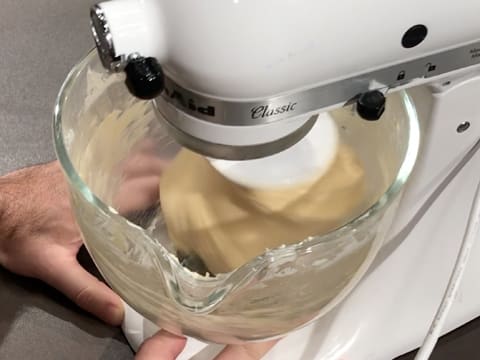
<instances>
[{"instance_id":1,"label":"round black knob at the mixer head's front, left of Aid lettering","mask_svg":"<svg viewBox=\"0 0 480 360\"><path fill-rule=\"evenodd\" d=\"M162 67L155 58L134 58L128 62L125 73L128 90L140 99L154 99L164 89L165 80Z\"/></svg>"}]
</instances>

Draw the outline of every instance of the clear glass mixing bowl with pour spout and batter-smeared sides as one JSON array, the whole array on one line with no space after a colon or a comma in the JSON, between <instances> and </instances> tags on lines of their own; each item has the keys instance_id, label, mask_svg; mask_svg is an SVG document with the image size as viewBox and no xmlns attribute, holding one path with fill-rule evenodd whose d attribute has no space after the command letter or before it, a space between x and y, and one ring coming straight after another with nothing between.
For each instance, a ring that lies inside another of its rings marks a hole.
<instances>
[{"instance_id":1,"label":"clear glass mixing bowl with pour spout and batter-smeared sides","mask_svg":"<svg viewBox=\"0 0 480 360\"><path fill-rule=\"evenodd\" d=\"M361 120L352 107L331 113L340 142L365 169L364 201L354 218L327 234L266 250L229 273L203 276L179 262L158 200L159 178L181 146L152 103L132 98L123 81L90 53L61 89L54 136L84 243L131 307L176 334L241 343L319 318L358 284L417 157L418 119L406 92L388 97L380 121Z\"/></svg>"}]
</instances>

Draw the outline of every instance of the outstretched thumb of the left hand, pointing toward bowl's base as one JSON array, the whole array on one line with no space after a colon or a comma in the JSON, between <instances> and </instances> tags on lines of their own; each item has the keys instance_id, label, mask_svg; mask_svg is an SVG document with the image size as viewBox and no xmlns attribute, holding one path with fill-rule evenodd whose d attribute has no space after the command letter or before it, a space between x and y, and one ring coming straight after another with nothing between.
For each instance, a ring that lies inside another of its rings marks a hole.
<instances>
[{"instance_id":1,"label":"outstretched thumb of the left hand, pointing toward bowl's base","mask_svg":"<svg viewBox=\"0 0 480 360\"><path fill-rule=\"evenodd\" d=\"M105 283L87 272L75 258L55 261L44 280L64 293L82 309L110 325L123 321L123 304L120 297Z\"/></svg>"}]
</instances>

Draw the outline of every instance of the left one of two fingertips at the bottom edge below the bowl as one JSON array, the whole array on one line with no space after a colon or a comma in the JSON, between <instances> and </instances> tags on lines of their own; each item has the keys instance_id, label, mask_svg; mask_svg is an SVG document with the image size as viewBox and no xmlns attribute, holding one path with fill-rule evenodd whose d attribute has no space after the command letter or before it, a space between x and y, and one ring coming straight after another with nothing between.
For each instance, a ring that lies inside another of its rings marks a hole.
<instances>
[{"instance_id":1,"label":"left one of two fingertips at the bottom edge below the bowl","mask_svg":"<svg viewBox=\"0 0 480 360\"><path fill-rule=\"evenodd\" d=\"M135 360L175 360L186 342L184 337L160 330L142 344Z\"/></svg>"}]
</instances>

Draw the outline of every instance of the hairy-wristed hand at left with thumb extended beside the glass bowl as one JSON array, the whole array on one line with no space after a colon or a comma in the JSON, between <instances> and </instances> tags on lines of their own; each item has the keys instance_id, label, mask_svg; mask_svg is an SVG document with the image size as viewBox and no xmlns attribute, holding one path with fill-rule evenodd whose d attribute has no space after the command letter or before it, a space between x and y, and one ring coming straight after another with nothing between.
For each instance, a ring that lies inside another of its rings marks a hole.
<instances>
[{"instance_id":1,"label":"hairy-wristed hand at left with thumb extended beside the glass bowl","mask_svg":"<svg viewBox=\"0 0 480 360\"><path fill-rule=\"evenodd\" d=\"M77 261L82 246L58 162L0 177L0 265L58 289L112 325L120 298Z\"/></svg>"}]
</instances>

